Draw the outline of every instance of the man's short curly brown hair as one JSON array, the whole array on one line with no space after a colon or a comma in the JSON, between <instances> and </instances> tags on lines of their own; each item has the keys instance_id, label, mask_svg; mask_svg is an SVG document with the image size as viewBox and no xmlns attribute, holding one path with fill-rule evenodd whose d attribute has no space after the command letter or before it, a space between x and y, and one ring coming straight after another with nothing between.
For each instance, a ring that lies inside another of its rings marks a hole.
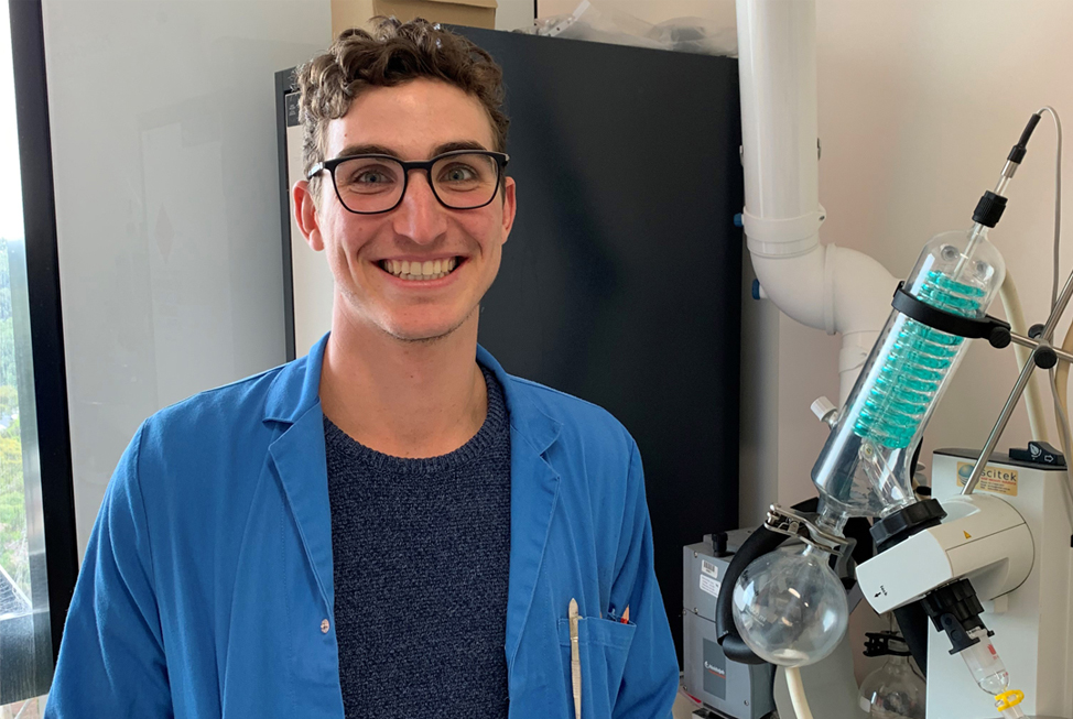
<instances>
[{"instance_id":1,"label":"man's short curly brown hair","mask_svg":"<svg viewBox=\"0 0 1073 719\"><path fill-rule=\"evenodd\" d=\"M442 80L477 98L491 121L497 152L507 148L502 111L502 69L469 39L416 19L373 18L372 31L346 30L323 53L296 72L304 124L302 159L305 172L324 160L328 122L342 118L369 87L393 87L419 77ZM314 201L321 176L310 181Z\"/></svg>"}]
</instances>

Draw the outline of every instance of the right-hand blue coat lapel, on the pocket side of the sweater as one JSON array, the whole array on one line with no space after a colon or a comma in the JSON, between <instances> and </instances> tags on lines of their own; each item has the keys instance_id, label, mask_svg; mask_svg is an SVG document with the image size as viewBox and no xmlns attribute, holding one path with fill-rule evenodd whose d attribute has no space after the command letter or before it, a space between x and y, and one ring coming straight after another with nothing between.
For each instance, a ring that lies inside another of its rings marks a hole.
<instances>
[{"instance_id":1,"label":"right-hand blue coat lapel, on the pocket side of the sweater","mask_svg":"<svg viewBox=\"0 0 1073 719\"><path fill-rule=\"evenodd\" d=\"M477 347L477 360L492 370L510 415L510 574L507 590L507 663L518 652L559 501L560 476L546 453L562 425L514 391L491 355Z\"/></svg>"}]
</instances>

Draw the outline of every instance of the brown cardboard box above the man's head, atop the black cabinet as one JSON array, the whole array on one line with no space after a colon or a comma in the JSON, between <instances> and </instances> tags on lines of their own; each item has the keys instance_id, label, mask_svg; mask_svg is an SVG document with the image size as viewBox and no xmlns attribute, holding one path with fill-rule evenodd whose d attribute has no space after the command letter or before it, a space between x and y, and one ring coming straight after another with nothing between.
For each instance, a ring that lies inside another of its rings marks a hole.
<instances>
[{"instance_id":1,"label":"brown cardboard box above the man's head, atop the black cabinet","mask_svg":"<svg viewBox=\"0 0 1073 719\"><path fill-rule=\"evenodd\" d=\"M377 15L495 30L497 7L496 0L332 0L332 36L365 28Z\"/></svg>"}]
</instances>

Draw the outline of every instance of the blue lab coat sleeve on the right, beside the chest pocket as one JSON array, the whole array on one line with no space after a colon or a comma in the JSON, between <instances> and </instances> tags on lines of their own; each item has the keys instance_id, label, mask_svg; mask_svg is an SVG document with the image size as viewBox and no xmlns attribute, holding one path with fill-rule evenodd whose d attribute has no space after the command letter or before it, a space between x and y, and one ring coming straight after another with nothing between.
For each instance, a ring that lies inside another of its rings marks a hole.
<instances>
[{"instance_id":1,"label":"blue lab coat sleeve on the right, beside the chest pocket","mask_svg":"<svg viewBox=\"0 0 1073 719\"><path fill-rule=\"evenodd\" d=\"M678 695L679 666L671 627L652 563L652 524L644 497L644 473L637 445L631 457L618 573L611 586L611 604L629 607L637 627L626 660L622 684L615 702L615 719L670 719Z\"/></svg>"}]
</instances>

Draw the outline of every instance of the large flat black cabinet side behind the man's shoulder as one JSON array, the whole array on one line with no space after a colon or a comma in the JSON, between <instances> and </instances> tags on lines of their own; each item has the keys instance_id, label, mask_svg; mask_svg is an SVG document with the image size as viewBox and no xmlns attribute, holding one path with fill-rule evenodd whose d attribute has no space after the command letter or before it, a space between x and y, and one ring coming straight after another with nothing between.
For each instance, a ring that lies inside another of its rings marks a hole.
<instances>
[{"instance_id":1,"label":"large flat black cabinet side behind the man's shoulder","mask_svg":"<svg viewBox=\"0 0 1073 719\"><path fill-rule=\"evenodd\" d=\"M738 524L737 61L457 30L503 67L518 182L480 342L637 439L681 655L682 546Z\"/></svg>"}]
</instances>

